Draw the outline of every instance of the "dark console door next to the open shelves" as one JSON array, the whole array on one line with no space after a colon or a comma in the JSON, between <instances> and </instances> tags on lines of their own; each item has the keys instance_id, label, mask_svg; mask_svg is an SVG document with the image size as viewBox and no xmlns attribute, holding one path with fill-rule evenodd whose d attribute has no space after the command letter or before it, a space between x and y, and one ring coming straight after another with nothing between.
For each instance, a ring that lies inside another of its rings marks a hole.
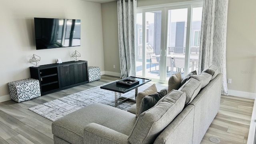
<instances>
[{"instance_id":1,"label":"dark console door next to the open shelves","mask_svg":"<svg viewBox=\"0 0 256 144\"><path fill-rule=\"evenodd\" d=\"M59 67L60 87L70 86L75 84L74 80L74 65L64 65Z\"/></svg>"}]
</instances>

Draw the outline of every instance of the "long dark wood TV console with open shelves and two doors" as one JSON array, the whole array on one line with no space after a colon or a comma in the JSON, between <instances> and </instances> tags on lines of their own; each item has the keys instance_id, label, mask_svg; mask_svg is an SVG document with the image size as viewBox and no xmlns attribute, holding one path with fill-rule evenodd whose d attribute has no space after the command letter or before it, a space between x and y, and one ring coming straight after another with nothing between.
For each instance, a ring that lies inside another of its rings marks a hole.
<instances>
[{"instance_id":1,"label":"long dark wood TV console with open shelves and two doors","mask_svg":"<svg viewBox=\"0 0 256 144\"><path fill-rule=\"evenodd\" d=\"M30 67L31 78L39 80L41 95L89 82L87 61L70 61Z\"/></svg>"}]
</instances>

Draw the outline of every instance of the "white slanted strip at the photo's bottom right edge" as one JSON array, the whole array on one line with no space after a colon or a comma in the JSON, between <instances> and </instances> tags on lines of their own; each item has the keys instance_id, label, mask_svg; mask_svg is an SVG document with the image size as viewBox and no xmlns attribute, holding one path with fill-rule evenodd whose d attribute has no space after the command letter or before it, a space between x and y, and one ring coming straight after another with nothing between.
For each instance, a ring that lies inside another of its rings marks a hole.
<instances>
[{"instance_id":1,"label":"white slanted strip at the photo's bottom right edge","mask_svg":"<svg viewBox=\"0 0 256 144\"><path fill-rule=\"evenodd\" d=\"M254 100L254 105L252 109L252 118L247 138L247 144L254 144L255 128L256 128L256 99Z\"/></svg>"}]
</instances>

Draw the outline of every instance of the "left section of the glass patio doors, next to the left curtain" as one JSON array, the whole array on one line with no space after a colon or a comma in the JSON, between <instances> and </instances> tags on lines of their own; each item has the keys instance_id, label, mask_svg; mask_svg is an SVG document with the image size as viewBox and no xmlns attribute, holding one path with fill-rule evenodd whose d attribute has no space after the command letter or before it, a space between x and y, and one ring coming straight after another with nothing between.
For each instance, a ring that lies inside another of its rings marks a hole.
<instances>
[{"instance_id":1,"label":"left section of the glass patio doors, next to the left curtain","mask_svg":"<svg viewBox=\"0 0 256 144\"><path fill-rule=\"evenodd\" d=\"M137 13L136 76L160 80L162 9Z\"/></svg>"}]
</instances>

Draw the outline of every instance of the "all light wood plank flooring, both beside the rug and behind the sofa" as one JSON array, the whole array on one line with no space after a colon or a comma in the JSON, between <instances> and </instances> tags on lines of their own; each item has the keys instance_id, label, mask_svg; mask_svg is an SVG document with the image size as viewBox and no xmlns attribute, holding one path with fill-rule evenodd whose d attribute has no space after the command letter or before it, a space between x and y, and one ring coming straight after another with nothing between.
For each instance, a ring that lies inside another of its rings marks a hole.
<instances>
[{"instance_id":1,"label":"all light wood plank flooring, both beside the rug and behind the sofa","mask_svg":"<svg viewBox=\"0 0 256 144\"><path fill-rule=\"evenodd\" d=\"M0 144L53 144L52 121L28 108L117 80L102 76L101 80L69 88L26 102L12 100L0 103ZM154 82L152 82L154 83ZM220 138L220 144L246 144L254 100L222 96L220 110L201 144L214 144L209 137Z\"/></svg>"}]
</instances>

